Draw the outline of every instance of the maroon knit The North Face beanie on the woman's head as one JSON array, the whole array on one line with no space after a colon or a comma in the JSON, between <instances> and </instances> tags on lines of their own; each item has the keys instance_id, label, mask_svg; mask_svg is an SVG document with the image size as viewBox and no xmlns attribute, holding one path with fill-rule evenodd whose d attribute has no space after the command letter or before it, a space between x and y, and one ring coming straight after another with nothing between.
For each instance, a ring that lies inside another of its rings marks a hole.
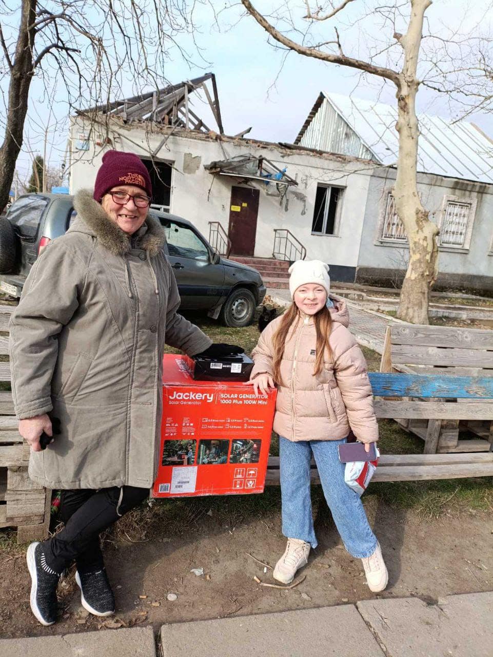
<instances>
[{"instance_id":1,"label":"maroon knit The North Face beanie on the woman's head","mask_svg":"<svg viewBox=\"0 0 493 657\"><path fill-rule=\"evenodd\" d=\"M100 202L108 189L118 185L136 185L152 196L149 172L139 156L108 150L102 156L102 165L96 174L93 198Z\"/></svg>"}]
</instances>

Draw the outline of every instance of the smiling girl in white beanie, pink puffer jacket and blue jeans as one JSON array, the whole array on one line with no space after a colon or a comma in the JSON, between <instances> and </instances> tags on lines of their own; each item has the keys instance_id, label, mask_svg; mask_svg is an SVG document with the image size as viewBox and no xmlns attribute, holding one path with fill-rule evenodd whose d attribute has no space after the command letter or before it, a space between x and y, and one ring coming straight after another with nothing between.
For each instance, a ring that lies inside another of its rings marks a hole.
<instances>
[{"instance_id":1,"label":"smiling girl in white beanie, pink puffer jacket and blue jeans","mask_svg":"<svg viewBox=\"0 0 493 657\"><path fill-rule=\"evenodd\" d=\"M344 482L337 447L350 428L369 445L378 439L364 356L347 329L343 300L330 297L329 267L298 260L289 273L293 303L268 324L253 350L249 383L256 394L278 387L274 431L279 434L282 533L288 538L273 576L288 584L317 541L313 529L310 461L347 551L362 559L372 591L387 586L387 568L358 495ZM369 449L366 448L367 451Z\"/></svg>"}]
</instances>

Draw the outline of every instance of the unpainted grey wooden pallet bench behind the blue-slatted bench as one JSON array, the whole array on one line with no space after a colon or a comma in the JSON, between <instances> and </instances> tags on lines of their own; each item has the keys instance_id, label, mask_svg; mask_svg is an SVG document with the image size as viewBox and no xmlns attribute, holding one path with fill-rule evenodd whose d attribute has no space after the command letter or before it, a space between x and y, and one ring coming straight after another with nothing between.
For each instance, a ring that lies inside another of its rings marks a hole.
<instances>
[{"instance_id":1,"label":"unpainted grey wooden pallet bench behind the blue-slatted bench","mask_svg":"<svg viewBox=\"0 0 493 657\"><path fill-rule=\"evenodd\" d=\"M408 372L420 374L442 374L446 376L492 376L493 377L493 331L474 328L432 327L422 325L393 325L387 327L380 363L380 372ZM437 403L439 398L430 400ZM477 403L486 403L482 395ZM489 451L493 443L493 423L481 415L469 413L464 417L461 399L449 399L451 411L442 419L416 418L396 419L406 430L423 438L428 451L434 445L440 453L458 451ZM469 400L467 403L472 403ZM490 400L493 403L493 400ZM461 424L460 424L461 422ZM459 429L466 429L478 438L459 440ZM438 433L438 441L429 442L430 434Z\"/></svg>"}]
</instances>

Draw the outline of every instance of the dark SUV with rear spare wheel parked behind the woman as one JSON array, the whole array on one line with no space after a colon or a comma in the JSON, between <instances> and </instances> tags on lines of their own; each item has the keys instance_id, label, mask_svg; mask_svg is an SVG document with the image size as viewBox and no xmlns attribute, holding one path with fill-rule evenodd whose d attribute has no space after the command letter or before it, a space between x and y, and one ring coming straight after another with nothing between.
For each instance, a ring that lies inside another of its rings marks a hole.
<instances>
[{"instance_id":1,"label":"dark SUV with rear spare wheel parked behind the woman","mask_svg":"<svg viewBox=\"0 0 493 657\"><path fill-rule=\"evenodd\" d=\"M181 217L152 210L166 233L167 257L175 271L182 310L204 310L229 327L251 323L265 296L256 269L215 252L196 227ZM19 297L43 248L74 220L72 196L24 194L0 217L0 290Z\"/></svg>"}]
</instances>

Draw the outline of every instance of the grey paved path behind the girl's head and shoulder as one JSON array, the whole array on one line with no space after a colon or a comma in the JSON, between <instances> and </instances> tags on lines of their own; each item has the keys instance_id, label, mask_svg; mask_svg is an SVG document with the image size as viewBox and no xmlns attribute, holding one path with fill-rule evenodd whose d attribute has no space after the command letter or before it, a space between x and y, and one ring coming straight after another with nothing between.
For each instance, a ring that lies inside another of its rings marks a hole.
<instances>
[{"instance_id":1,"label":"grey paved path behind the girl's head and shoulder","mask_svg":"<svg viewBox=\"0 0 493 657\"><path fill-rule=\"evenodd\" d=\"M291 302L289 290L276 290L267 288L267 294L272 301L280 306L287 305ZM337 290L334 290L337 294ZM358 302L345 299L349 307L349 330L353 333L359 344L369 347L378 353L383 351L383 338L385 337L385 328L389 324L405 324L400 319L375 313L373 310L361 308Z\"/></svg>"}]
</instances>

